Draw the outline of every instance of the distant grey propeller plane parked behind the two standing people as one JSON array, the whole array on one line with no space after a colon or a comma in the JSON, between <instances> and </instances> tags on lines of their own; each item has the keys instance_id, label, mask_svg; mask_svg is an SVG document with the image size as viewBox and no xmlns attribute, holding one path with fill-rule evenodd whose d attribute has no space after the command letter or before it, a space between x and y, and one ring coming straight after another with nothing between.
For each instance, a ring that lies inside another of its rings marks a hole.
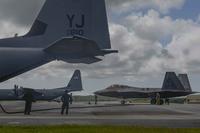
<instances>
[{"instance_id":1,"label":"distant grey propeller plane parked behind the two standing people","mask_svg":"<svg viewBox=\"0 0 200 133\"><path fill-rule=\"evenodd\" d=\"M74 91L82 91L82 79L80 70L76 70L66 87L55 89L32 89L32 88L13 88L13 89L1 89L0 100L23 100L24 94L29 91L33 94L36 101L52 101L58 97L61 97L66 91L68 93Z\"/></svg>"}]
</instances>

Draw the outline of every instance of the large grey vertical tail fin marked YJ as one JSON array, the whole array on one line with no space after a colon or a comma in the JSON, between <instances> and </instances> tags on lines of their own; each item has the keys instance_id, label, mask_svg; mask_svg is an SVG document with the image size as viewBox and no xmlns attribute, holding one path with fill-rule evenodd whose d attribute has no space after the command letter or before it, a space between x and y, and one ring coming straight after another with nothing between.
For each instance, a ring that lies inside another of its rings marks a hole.
<instances>
[{"instance_id":1,"label":"large grey vertical tail fin marked YJ","mask_svg":"<svg viewBox=\"0 0 200 133\"><path fill-rule=\"evenodd\" d=\"M46 0L24 37L42 36L44 45L63 37L81 36L110 49L105 0Z\"/></svg>"}]
</instances>

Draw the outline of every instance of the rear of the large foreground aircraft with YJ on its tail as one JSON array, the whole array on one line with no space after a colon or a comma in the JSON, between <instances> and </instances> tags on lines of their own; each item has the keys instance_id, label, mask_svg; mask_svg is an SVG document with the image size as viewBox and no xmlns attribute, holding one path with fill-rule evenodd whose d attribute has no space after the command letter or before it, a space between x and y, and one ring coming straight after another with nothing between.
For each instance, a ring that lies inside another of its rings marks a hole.
<instances>
[{"instance_id":1,"label":"rear of the large foreground aircraft with YJ on its tail","mask_svg":"<svg viewBox=\"0 0 200 133\"><path fill-rule=\"evenodd\" d=\"M46 0L27 34L0 40L0 82L54 60L95 63L110 49L104 0Z\"/></svg>"}]
</instances>

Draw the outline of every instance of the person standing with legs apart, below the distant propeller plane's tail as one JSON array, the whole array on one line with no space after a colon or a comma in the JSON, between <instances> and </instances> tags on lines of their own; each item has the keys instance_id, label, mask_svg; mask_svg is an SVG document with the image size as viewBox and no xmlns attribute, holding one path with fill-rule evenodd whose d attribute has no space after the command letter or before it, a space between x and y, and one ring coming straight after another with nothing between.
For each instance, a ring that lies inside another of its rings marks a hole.
<instances>
[{"instance_id":1,"label":"person standing with legs apart, below the distant propeller plane's tail","mask_svg":"<svg viewBox=\"0 0 200 133\"><path fill-rule=\"evenodd\" d=\"M72 101L71 95L69 95L67 92L61 97L62 101L62 109L61 109L61 114L64 114L64 111L66 109L66 115L69 114L69 103Z\"/></svg>"}]
</instances>

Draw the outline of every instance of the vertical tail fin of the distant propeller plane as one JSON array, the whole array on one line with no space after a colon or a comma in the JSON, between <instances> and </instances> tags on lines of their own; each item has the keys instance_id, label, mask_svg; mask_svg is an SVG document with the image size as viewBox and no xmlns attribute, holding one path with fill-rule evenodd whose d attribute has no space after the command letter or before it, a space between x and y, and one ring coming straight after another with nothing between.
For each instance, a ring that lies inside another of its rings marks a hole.
<instances>
[{"instance_id":1,"label":"vertical tail fin of the distant propeller plane","mask_svg":"<svg viewBox=\"0 0 200 133\"><path fill-rule=\"evenodd\" d=\"M74 72L71 80L69 81L69 84L66 87L66 90L68 92L83 90L80 70L76 70Z\"/></svg>"}]
</instances>

